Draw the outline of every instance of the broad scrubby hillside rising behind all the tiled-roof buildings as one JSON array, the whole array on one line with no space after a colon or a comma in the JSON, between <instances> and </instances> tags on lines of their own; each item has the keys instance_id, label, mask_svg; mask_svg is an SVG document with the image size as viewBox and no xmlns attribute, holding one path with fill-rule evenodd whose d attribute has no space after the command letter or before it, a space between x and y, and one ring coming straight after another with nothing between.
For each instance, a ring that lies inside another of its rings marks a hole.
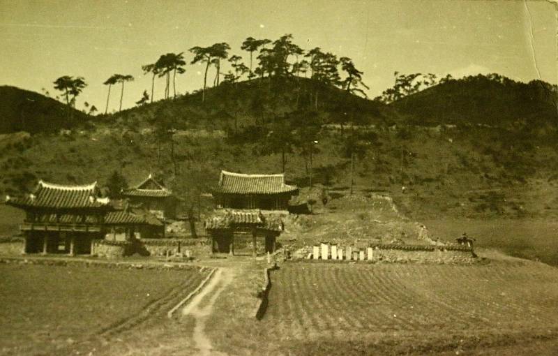
<instances>
[{"instance_id":1,"label":"broad scrubby hillside rising behind all the tiled-roof buildings","mask_svg":"<svg viewBox=\"0 0 558 356\"><path fill-rule=\"evenodd\" d=\"M70 133L8 140L0 152L0 193L27 191L39 178L105 184L114 171L129 184L153 172L170 186L185 181L209 190L220 169L279 172L283 153L287 180L305 187L312 145L312 183L345 194L347 147L358 141L355 189L390 193L408 216L558 216L557 131L542 97L533 96L527 112L504 84L477 93L470 80L455 80L386 106L316 85L303 78L222 84L208 89L205 103L197 92L95 117ZM541 125L478 126L483 116L465 104L437 106L444 93L461 93L462 103L482 94L477 110L496 123L523 112ZM437 126L416 125L425 107L442 118ZM448 126L445 114L472 116L467 125Z\"/></svg>"}]
</instances>

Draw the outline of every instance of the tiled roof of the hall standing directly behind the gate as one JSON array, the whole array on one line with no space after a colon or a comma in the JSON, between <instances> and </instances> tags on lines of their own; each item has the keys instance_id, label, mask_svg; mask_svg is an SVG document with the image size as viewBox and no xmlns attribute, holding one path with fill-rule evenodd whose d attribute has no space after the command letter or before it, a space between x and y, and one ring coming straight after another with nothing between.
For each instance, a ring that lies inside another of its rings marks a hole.
<instances>
[{"instance_id":1,"label":"tiled roof of the hall standing directly behind the gate","mask_svg":"<svg viewBox=\"0 0 558 356\"><path fill-rule=\"evenodd\" d=\"M285 175L282 174L244 175L222 170L216 190L232 194L277 194L294 192L297 188L285 184Z\"/></svg>"}]
</instances>

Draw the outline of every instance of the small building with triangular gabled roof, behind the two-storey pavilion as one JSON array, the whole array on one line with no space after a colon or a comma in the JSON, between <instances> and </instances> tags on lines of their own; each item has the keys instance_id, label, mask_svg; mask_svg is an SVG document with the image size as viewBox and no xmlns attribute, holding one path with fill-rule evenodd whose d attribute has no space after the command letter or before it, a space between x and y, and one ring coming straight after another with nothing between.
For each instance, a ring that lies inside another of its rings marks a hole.
<instances>
[{"instance_id":1,"label":"small building with triangular gabled roof, behind the two-storey pavilion","mask_svg":"<svg viewBox=\"0 0 558 356\"><path fill-rule=\"evenodd\" d=\"M122 192L132 205L140 205L157 218L167 220L176 218L178 200L172 191L149 175L134 188Z\"/></svg>"}]
</instances>

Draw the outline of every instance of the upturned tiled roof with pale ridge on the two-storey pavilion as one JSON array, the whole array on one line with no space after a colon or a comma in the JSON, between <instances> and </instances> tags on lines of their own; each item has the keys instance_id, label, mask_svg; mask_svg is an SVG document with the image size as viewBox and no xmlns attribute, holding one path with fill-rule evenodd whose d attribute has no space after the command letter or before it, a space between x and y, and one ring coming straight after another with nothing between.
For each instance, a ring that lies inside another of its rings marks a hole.
<instances>
[{"instance_id":1,"label":"upturned tiled roof with pale ridge on the two-storey pavilion","mask_svg":"<svg viewBox=\"0 0 558 356\"><path fill-rule=\"evenodd\" d=\"M65 186L39 181L32 194L22 198L6 197L6 204L16 207L45 207L51 209L79 209L104 207L107 198L99 198L97 182L81 186Z\"/></svg>"}]
</instances>

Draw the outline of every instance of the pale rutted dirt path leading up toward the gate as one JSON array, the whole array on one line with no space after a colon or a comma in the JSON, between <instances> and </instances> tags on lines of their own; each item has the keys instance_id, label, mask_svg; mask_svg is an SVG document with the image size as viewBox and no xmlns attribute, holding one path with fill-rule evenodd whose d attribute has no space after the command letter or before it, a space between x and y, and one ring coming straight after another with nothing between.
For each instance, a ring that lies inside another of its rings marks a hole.
<instances>
[{"instance_id":1,"label":"pale rutted dirt path leading up toward the gate","mask_svg":"<svg viewBox=\"0 0 558 356\"><path fill-rule=\"evenodd\" d=\"M213 274L213 278L207 283L206 287L182 309L183 316L194 318L195 327L192 339L195 347L199 350L197 355L223 355L213 350L211 340L205 334L204 329L207 318L209 318L213 311L213 305L220 293L232 282L233 275L234 272L231 268L219 268ZM202 302L204 303L202 304Z\"/></svg>"}]
</instances>

